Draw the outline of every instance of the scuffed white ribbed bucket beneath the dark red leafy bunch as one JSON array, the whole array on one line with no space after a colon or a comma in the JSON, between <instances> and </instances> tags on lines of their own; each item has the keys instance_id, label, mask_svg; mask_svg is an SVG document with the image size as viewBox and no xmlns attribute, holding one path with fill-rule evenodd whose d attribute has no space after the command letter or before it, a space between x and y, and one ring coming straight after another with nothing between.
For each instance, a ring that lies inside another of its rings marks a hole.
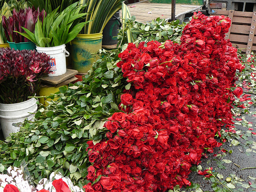
<instances>
[{"instance_id":1,"label":"scuffed white ribbed bucket beneath the dark red leafy bunch","mask_svg":"<svg viewBox=\"0 0 256 192\"><path fill-rule=\"evenodd\" d=\"M36 110L37 104L35 98L31 98L21 103L0 103L0 123L4 138L8 137L10 133L18 132L22 122L27 118L28 120L32 119L35 114L30 113L36 113Z\"/></svg>"}]
</instances>

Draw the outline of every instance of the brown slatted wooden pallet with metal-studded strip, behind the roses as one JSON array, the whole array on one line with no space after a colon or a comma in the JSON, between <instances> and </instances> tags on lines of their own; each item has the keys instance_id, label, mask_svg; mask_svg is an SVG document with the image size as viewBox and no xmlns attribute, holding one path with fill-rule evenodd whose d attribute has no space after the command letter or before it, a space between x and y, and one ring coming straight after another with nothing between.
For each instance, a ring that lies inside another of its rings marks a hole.
<instances>
[{"instance_id":1,"label":"brown slatted wooden pallet with metal-studded strip, behind the roses","mask_svg":"<svg viewBox=\"0 0 256 192\"><path fill-rule=\"evenodd\" d=\"M229 39L234 46L242 49L242 52L246 54L256 51L256 12L234 10L213 10L213 12L212 15L227 15L231 19L231 27L226 34L226 39Z\"/></svg>"}]
</instances>

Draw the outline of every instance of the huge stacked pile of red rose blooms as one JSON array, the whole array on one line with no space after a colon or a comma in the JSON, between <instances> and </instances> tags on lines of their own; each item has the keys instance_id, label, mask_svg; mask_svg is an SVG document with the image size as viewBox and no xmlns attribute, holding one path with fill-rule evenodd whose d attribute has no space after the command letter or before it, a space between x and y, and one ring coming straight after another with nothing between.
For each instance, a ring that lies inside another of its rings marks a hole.
<instances>
[{"instance_id":1,"label":"huge stacked pile of red rose blooms","mask_svg":"<svg viewBox=\"0 0 256 192\"><path fill-rule=\"evenodd\" d=\"M88 141L86 192L166 191L190 185L191 164L204 149L220 146L223 124L231 124L230 86L237 59L225 33L230 19L200 12L184 28L181 44L171 41L129 44L120 53L123 76L131 89L108 118L108 140ZM240 94L240 93L239 93Z\"/></svg>"}]
</instances>

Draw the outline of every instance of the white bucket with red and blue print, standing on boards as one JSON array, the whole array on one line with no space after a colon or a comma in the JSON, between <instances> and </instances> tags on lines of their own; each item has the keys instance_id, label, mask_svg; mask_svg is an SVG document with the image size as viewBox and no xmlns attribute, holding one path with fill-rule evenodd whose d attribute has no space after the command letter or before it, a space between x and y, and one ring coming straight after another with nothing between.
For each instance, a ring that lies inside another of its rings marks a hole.
<instances>
[{"instance_id":1,"label":"white bucket with red and blue print, standing on boards","mask_svg":"<svg viewBox=\"0 0 256 192\"><path fill-rule=\"evenodd\" d=\"M65 49L66 45L60 45L56 47L37 47L37 52L41 53L44 52L45 54L52 57L49 61L51 64L50 73L48 76L59 76L63 75L67 72L66 68L66 58L69 56L69 52ZM67 53L67 55L66 55Z\"/></svg>"}]
</instances>

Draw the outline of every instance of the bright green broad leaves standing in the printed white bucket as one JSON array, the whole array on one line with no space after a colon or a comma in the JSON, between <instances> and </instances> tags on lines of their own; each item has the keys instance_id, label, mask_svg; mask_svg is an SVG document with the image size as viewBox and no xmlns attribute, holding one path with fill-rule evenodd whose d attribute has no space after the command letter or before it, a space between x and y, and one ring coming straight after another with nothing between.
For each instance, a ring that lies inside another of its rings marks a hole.
<instances>
[{"instance_id":1,"label":"bright green broad leaves standing in the printed white bucket","mask_svg":"<svg viewBox=\"0 0 256 192\"><path fill-rule=\"evenodd\" d=\"M62 12L58 12L57 8L53 12L48 13L43 22L40 20L36 22L35 32L31 32L26 27L21 27L26 33L18 33L39 47L54 47L67 44L88 23L88 21L79 23L88 13L82 13L85 6L77 5L78 2L71 4Z\"/></svg>"}]
</instances>

